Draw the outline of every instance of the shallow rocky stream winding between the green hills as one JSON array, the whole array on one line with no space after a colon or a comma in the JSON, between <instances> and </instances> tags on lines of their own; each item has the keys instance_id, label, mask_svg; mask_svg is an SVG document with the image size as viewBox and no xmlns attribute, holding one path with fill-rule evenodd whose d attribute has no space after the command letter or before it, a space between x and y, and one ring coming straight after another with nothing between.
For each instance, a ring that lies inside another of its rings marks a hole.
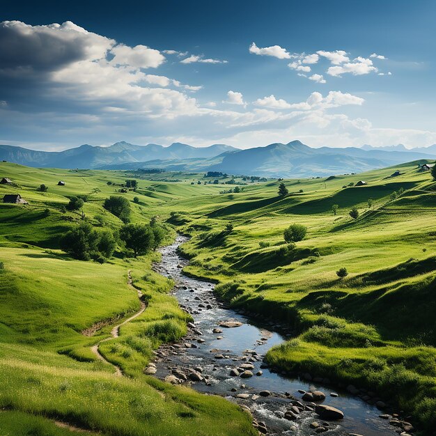
<instances>
[{"instance_id":1,"label":"shallow rocky stream winding between the green hills","mask_svg":"<svg viewBox=\"0 0 436 436\"><path fill-rule=\"evenodd\" d=\"M176 282L173 295L182 309L191 313L194 325L190 326L187 336L180 343L165 344L157 350L157 377L173 382L179 382L174 380L175 377L187 377L185 383L191 384L196 391L224 396L249 407L254 418L266 424L268 435L315 435L320 433L316 431L320 429L311 428L314 421L325 427L322 432L325 435L398 435L389 420L379 417L384 412L375 405L322 382L308 382L270 371L262 361L265 353L289 338L290 332L283 332L279 325L272 322L263 325L258 318L250 318L229 309L213 295L212 283L182 274L182 267L188 261L178 255L177 249L186 240L178 236L172 245L160 249L162 261L155 265L155 270ZM240 322L241 325L233 328L219 326L220 322L228 320ZM230 375L233 368L240 368L242 364L246 368L253 366L249 368L254 374L252 377ZM256 375L259 371L261 375ZM202 380L189 380L189 374L193 372L200 374ZM260 391L264 390L270 391L271 395L259 396ZM292 407L293 400L306 404L299 390L324 392L326 398L323 404L341 410L344 419L322 421L310 410L299 413L295 421L285 419L284 414ZM242 397L247 398L237 398L238 394L246 394Z\"/></svg>"}]
</instances>

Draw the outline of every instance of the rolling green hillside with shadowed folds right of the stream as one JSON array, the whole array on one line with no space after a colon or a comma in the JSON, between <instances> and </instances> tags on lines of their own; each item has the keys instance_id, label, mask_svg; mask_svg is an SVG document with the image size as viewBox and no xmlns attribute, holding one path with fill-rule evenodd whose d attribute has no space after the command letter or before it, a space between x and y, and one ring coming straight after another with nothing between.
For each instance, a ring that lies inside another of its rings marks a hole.
<instances>
[{"instance_id":1,"label":"rolling green hillside with shadowed folds right of the stream","mask_svg":"<svg viewBox=\"0 0 436 436\"><path fill-rule=\"evenodd\" d=\"M268 353L272 366L369 387L434 426L435 182L412 163L285 184L286 198L266 182L174 202L189 211L187 272L221 283L233 306L295 328L297 338ZM283 230L293 223L308 231L289 248Z\"/></svg>"}]
</instances>

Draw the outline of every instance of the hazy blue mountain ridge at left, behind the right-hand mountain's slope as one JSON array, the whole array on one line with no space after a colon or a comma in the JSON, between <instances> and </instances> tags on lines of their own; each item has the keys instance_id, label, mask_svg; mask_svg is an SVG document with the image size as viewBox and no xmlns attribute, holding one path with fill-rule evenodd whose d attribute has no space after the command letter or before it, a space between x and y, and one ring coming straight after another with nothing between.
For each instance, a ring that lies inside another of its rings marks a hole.
<instances>
[{"instance_id":1,"label":"hazy blue mountain ridge at left, behind the right-hand mountain's slope","mask_svg":"<svg viewBox=\"0 0 436 436\"><path fill-rule=\"evenodd\" d=\"M232 150L238 150L238 148L224 144L197 148L183 143L172 143L169 147L153 143L137 146L125 141L114 143L109 147L93 147L84 144L77 148L57 152L0 145L0 159L36 167L93 169L103 165L144 162L153 159L208 158Z\"/></svg>"}]
</instances>

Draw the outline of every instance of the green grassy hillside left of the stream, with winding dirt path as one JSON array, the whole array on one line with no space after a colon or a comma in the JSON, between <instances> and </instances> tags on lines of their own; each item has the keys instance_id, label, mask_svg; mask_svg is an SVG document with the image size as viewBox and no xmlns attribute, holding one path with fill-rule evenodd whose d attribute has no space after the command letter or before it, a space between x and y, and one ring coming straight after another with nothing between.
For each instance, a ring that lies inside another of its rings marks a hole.
<instances>
[{"instance_id":1,"label":"green grassy hillside left of the stream, with winding dirt path","mask_svg":"<svg viewBox=\"0 0 436 436\"><path fill-rule=\"evenodd\" d=\"M157 254L134 259L118 247L114 258L100 265L74 260L59 249L61 235L81 222L80 212L62 208L69 196L86 196L86 221L103 222L116 232L122 222L102 208L108 196L128 198L132 220L144 221L157 215L156 205L189 198L196 186L186 182L174 190L171 183L159 182L150 191L155 182L141 180L137 192L118 194L120 187L107 182L123 183L123 173L7 163L0 164L0 175L14 182L0 185L1 198L20 194L29 202L0 203L0 433L253 435L249 416L228 401L143 375L153 349L185 334L189 320L167 294L171 281L151 270ZM57 186L59 180L66 185ZM41 183L47 192L36 190ZM91 347L109 337L115 322L139 310L137 292L127 286L129 270L147 308L100 347L123 371L117 377L114 366L97 359ZM93 326L100 328L82 333ZM155 336L156 331L167 334Z\"/></svg>"}]
</instances>

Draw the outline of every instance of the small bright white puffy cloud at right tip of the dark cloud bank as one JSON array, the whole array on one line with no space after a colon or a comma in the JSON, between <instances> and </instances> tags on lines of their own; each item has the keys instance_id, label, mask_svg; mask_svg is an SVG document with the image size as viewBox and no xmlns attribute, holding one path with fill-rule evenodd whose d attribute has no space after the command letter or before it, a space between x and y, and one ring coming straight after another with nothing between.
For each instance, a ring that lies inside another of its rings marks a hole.
<instances>
[{"instance_id":1,"label":"small bright white puffy cloud at right tip of the dark cloud bank","mask_svg":"<svg viewBox=\"0 0 436 436\"><path fill-rule=\"evenodd\" d=\"M129 47L128 45L118 44L111 49L114 65L131 65L136 68L157 68L165 61L165 56L159 50L150 49L146 45Z\"/></svg>"}]
</instances>

